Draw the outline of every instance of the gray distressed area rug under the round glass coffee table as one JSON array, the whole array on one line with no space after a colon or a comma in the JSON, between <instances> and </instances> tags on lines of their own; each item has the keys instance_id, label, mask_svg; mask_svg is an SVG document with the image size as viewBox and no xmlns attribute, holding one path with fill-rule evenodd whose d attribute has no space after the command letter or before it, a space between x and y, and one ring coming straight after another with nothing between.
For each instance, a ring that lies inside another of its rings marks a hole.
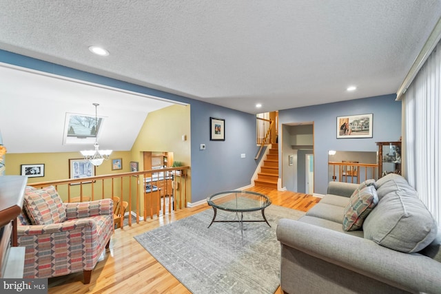
<instances>
[{"instance_id":1,"label":"gray distressed area rug under the round glass coffee table","mask_svg":"<svg viewBox=\"0 0 441 294\"><path fill-rule=\"evenodd\" d=\"M297 220L305 213L276 205L265 209L265 222L214 222L207 209L134 238L192 293L274 293L280 284L280 218ZM216 220L237 219L220 211ZM244 220L261 220L260 211Z\"/></svg>"}]
</instances>

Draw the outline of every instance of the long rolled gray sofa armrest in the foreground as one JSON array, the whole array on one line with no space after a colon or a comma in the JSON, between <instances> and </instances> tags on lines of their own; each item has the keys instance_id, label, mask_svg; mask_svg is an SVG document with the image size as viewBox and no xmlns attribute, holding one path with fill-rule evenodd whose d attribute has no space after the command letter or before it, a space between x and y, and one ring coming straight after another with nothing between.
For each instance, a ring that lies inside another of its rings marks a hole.
<instances>
[{"instance_id":1,"label":"long rolled gray sofa armrest in the foreground","mask_svg":"<svg viewBox=\"0 0 441 294\"><path fill-rule=\"evenodd\" d=\"M407 291L438 293L441 288L441 263L418 253L394 251L371 240L288 219L278 222L277 239L283 246Z\"/></svg>"}]
</instances>

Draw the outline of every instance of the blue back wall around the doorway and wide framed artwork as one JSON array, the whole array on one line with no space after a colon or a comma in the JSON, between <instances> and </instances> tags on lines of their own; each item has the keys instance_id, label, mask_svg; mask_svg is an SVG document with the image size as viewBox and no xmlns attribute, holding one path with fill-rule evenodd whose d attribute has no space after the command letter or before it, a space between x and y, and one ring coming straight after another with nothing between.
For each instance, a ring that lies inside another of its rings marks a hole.
<instances>
[{"instance_id":1,"label":"blue back wall around the doorway and wide framed artwork","mask_svg":"<svg viewBox=\"0 0 441 294\"><path fill-rule=\"evenodd\" d=\"M278 112L280 125L314 121L315 193L323 194L327 191L328 150L377 151L376 142L398 141L401 136L401 101L395 101L395 98L395 94L389 94ZM337 139L337 116L356 114L373 114L373 138ZM279 129L282 129L280 125ZM282 155L279 150L279 165ZM281 170L279 167L279 173Z\"/></svg>"}]
</instances>

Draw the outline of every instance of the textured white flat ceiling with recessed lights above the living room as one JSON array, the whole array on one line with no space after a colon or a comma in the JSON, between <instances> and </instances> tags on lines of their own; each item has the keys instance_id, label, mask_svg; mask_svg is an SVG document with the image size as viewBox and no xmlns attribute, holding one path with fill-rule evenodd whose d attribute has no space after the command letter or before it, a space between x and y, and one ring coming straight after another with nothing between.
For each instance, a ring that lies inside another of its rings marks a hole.
<instances>
[{"instance_id":1,"label":"textured white flat ceiling with recessed lights above the living room","mask_svg":"<svg viewBox=\"0 0 441 294\"><path fill-rule=\"evenodd\" d=\"M253 114L396 93L441 17L440 0L0 7L0 49ZM94 56L89 45L110 56ZM358 90L346 92L349 85Z\"/></svg>"}]
</instances>

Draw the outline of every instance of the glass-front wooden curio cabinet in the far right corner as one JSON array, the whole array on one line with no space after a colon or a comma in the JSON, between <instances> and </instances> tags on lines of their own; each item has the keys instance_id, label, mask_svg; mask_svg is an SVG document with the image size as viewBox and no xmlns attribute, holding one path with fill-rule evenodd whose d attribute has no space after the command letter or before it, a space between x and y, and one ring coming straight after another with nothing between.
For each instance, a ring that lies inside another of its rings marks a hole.
<instances>
[{"instance_id":1,"label":"glass-front wooden curio cabinet in the far right corner","mask_svg":"<svg viewBox=\"0 0 441 294\"><path fill-rule=\"evenodd\" d=\"M401 142L376 142L378 146L378 178L401 174Z\"/></svg>"}]
</instances>

